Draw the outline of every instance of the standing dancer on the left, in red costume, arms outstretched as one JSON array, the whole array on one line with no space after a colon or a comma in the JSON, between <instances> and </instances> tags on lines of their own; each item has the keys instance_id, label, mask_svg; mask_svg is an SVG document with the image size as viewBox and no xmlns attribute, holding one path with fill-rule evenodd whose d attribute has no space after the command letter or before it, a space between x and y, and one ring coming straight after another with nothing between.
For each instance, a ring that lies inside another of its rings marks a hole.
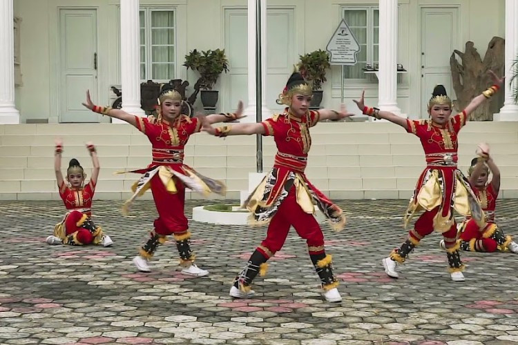
<instances>
[{"instance_id":1,"label":"standing dancer on the left, in red costume, arms outstretched","mask_svg":"<svg viewBox=\"0 0 518 345\"><path fill-rule=\"evenodd\" d=\"M153 146L153 161L147 168L133 170L142 174L139 181L133 185L133 196L126 201L123 213L128 213L133 200L151 188L153 200L158 211L158 218L153 225L148 241L140 248L139 255L133 259L135 266L149 272L148 260L153 257L157 246L166 242L166 236L173 235L178 253L182 273L202 277L208 275L194 264L195 256L191 250L191 232L184 214L185 188L209 195L218 193L224 195L225 186L196 172L184 164L184 146L189 137L200 132L202 120L200 117L189 118L181 114L182 96L168 84L164 85L158 96L157 118L142 118L128 114L123 110L95 106L86 94L86 108L100 114L122 119L135 126L146 135ZM204 117L209 124L239 119L242 114L242 103L238 105L236 113L213 114Z\"/></svg>"}]
</instances>

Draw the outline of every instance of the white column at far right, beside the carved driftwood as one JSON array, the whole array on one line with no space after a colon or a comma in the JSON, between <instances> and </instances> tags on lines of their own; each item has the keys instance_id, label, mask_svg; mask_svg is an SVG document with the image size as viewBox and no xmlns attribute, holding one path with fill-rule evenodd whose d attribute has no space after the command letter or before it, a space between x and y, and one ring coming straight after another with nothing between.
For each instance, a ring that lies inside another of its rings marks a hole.
<instances>
[{"instance_id":1,"label":"white column at far right, beside the carved driftwood","mask_svg":"<svg viewBox=\"0 0 518 345\"><path fill-rule=\"evenodd\" d=\"M518 121L518 105L512 97L512 90L517 86L517 80L509 83L513 74L512 61L518 53L518 3L516 0L506 0L506 81L505 101L498 114L493 115L493 121Z\"/></svg>"}]
</instances>

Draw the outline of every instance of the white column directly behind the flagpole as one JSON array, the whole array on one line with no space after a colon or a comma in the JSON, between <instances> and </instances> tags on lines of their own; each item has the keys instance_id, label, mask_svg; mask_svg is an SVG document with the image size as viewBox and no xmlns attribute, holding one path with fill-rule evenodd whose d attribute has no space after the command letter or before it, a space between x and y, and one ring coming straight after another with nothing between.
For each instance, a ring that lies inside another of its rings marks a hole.
<instances>
[{"instance_id":1,"label":"white column directly behind the flagpole","mask_svg":"<svg viewBox=\"0 0 518 345\"><path fill-rule=\"evenodd\" d=\"M262 119L271 116L266 106L266 19L267 1L248 0L248 104L241 122L256 121L256 1L261 1L261 106Z\"/></svg>"}]
</instances>

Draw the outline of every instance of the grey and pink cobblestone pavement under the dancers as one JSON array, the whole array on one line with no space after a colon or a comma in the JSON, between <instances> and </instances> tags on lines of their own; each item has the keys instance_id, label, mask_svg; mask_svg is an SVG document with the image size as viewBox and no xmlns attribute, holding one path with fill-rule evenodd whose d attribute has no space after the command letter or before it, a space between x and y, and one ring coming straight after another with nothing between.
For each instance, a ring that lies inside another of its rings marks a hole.
<instances>
[{"instance_id":1,"label":"grey and pink cobblestone pavement under the dancers","mask_svg":"<svg viewBox=\"0 0 518 345\"><path fill-rule=\"evenodd\" d=\"M187 210L207 201L189 201ZM512 344L518 342L518 255L464 253L466 282L451 282L441 237L427 237L398 280L381 259L405 239L405 201L340 201L346 230L327 226L343 302L324 302L306 246L294 231L254 282L253 299L229 287L265 228L191 222L198 265L209 277L178 270L178 252L157 250L153 273L131 264L155 217L137 201L96 201L95 221L115 244L49 246L61 220L57 201L0 206L1 344ZM518 200L500 201L497 219L518 235Z\"/></svg>"}]
</instances>

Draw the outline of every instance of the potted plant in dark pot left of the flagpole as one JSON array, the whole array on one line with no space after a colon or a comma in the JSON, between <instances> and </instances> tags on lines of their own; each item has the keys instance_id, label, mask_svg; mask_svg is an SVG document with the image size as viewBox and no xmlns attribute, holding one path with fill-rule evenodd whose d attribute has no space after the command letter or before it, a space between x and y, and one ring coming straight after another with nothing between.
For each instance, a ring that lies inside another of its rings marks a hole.
<instances>
[{"instance_id":1,"label":"potted plant in dark pot left of the flagpole","mask_svg":"<svg viewBox=\"0 0 518 345\"><path fill-rule=\"evenodd\" d=\"M229 60L225 56L224 50L206 50L201 53L198 50L192 50L185 55L184 66L189 70L196 70L200 73L199 83L203 107L206 109L214 109L218 103L218 91L212 90L218 77L222 72L229 71Z\"/></svg>"}]
</instances>

